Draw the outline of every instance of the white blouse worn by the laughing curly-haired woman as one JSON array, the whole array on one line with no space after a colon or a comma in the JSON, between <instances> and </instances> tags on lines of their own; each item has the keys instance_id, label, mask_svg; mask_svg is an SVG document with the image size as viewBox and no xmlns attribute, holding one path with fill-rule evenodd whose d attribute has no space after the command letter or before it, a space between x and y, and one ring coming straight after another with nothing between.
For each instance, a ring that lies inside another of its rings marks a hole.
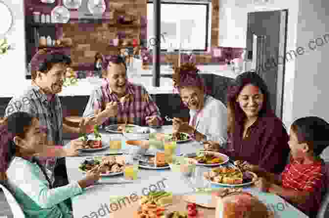
<instances>
[{"instance_id":1,"label":"white blouse worn by the laughing curly-haired woman","mask_svg":"<svg viewBox=\"0 0 329 218\"><path fill-rule=\"evenodd\" d=\"M189 110L189 124L192 125L192 120L196 110ZM196 118L196 130L206 135L207 141L216 141L220 144L227 142L227 108L219 100L210 95L205 95L205 104L202 111Z\"/></svg>"}]
</instances>

